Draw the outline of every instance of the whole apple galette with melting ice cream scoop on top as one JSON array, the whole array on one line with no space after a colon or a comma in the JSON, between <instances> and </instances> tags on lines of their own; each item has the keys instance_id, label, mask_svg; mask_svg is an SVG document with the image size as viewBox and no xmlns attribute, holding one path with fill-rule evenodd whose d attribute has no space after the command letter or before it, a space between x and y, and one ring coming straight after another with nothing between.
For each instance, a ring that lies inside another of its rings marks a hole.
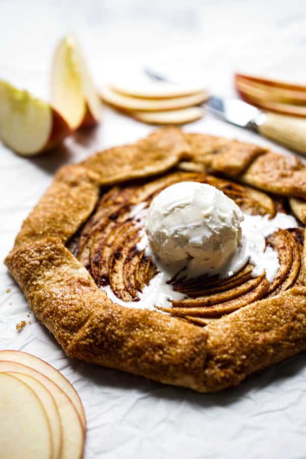
<instances>
[{"instance_id":1,"label":"whole apple galette with melting ice cream scoop on top","mask_svg":"<svg viewBox=\"0 0 306 459\"><path fill-rule=\"evenodd\" d=\"M73 358L199 392L306 348L306 168L161 129L62 167L6 264Z\"/></svg>"}]
</instances>

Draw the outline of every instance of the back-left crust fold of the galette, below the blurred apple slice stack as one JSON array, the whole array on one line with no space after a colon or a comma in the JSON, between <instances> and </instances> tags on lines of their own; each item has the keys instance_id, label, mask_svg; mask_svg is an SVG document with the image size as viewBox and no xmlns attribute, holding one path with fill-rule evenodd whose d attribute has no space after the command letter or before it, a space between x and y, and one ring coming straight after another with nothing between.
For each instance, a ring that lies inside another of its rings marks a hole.
<instances>
[{"instance_id":1,"label":"back-left crust fold of the galette, below the blurred apple slice stack","mask_svg":"<svg viewBox=\"0 0 306 459\"><path fill-rule=\"evenodd\" d=\"M134 144L100 151L82 165L99 175L100 184L112 185L164 172L188 152L182 132L166 127Z\"/></svg>"}]
</instances>

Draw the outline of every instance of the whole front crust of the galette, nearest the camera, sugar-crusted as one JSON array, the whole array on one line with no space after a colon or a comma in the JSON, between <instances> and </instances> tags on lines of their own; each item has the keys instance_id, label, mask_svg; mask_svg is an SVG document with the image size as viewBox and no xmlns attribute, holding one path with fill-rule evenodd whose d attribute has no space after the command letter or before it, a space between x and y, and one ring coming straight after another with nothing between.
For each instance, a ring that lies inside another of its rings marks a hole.
<instances>
[{"instance_id":1,"label":"whole front crust of the galette, nearest the camera, sugar-crusted","mask_svg":"<svg viewBox=\"0 0 306 459\"><path fill-rule=\"evenodd\" d=\"M306 288L202 329L112 303L59 239L20 246L6 263L67 355L87 362L206 392L237 385L306 348Z\"/></svg>"}]
</instances>

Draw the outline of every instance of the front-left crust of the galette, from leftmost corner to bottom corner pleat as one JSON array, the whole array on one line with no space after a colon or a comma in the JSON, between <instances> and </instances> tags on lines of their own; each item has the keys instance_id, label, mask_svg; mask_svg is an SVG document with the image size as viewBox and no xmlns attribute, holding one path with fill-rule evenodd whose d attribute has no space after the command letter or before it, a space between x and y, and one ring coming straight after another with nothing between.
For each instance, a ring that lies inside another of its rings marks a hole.
<instances>
[{"instance_id":1,"label":"front-left crust of the galette, from leftmost corner to bottom corner pleat","mask_svg":"<svg viewBox=\"0 0 306 459\"><path fill-rule=\"evenodd\" d=\"M205 330L158 312L114 304L57 238L21 245L6 264L67 355L197 387L206 358Z\"/></svg>"}]
</instances>

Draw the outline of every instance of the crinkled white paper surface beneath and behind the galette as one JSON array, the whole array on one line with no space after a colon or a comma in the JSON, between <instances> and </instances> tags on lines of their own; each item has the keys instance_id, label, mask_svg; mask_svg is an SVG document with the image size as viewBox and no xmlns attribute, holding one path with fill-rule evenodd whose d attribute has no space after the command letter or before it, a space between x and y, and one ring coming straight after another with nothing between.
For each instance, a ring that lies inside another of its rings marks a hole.
<instances>
[{"instance_id":1,"label":"crinkled white paper surface beneath and behind the galette","mask_svg":"<svg viewBox=\"0 0 306 459\"><path fill-rule=\"evenodd\" d=\"M224 95L233 93L235 69L306 81L302 0L0 0L0 78L48 97L55 43L70 31L78 34L97 84L144 65L174 81L204 82ZM58 167L150 129L105 110L98 130L77 133L41 157L24 159L0 145L0 259ZM187 129L285 151L209 116ZM17 333L22 319L32 324ZM40 356L73 383L87 415L86 459L306 457L305 354L213 395L71 361L29 313L1 264L0 349L5 348Z\"/></svg>"}]
</instances>

